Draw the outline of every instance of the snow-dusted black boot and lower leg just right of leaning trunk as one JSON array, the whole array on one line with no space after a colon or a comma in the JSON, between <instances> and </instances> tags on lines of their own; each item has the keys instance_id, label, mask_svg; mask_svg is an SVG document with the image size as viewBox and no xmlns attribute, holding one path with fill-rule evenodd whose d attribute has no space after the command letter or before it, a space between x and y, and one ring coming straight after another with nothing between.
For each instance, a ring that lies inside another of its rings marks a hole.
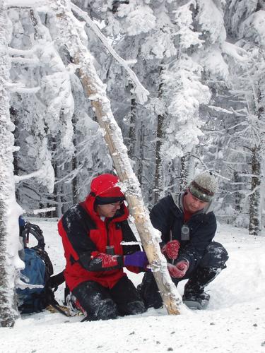
<instances>
[{"instance_id":1,"label":"snow-dusted black boot and lower leg just right of leaning trunk","mask_svg":"<svg viewBox=\"0 0 265 353\"><path fill-rule=\"evenodd\" d=\"M194 270L184 287L183 302L190 309L206 309L210 295L204 288L220 273L220 268L201 268Z\"/></svg>"}]
</instances>

